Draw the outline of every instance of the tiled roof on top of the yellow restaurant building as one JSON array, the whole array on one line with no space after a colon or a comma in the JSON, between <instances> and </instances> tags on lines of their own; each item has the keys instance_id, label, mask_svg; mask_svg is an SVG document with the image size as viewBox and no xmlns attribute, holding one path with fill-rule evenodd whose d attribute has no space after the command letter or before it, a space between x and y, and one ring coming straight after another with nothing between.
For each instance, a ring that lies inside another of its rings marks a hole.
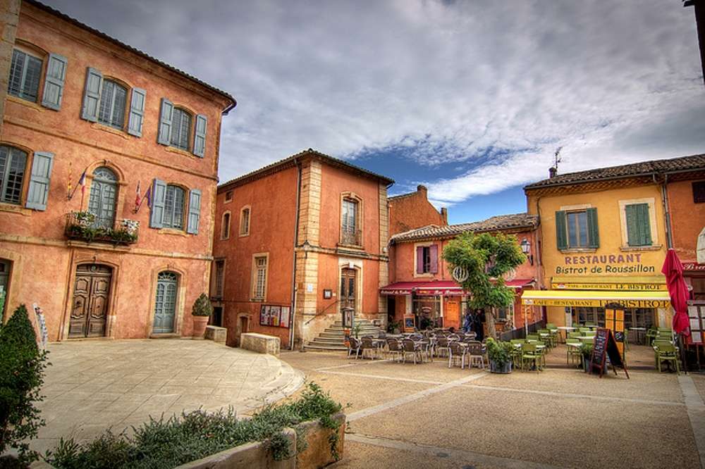
<instances>
[{"instance_id":1,"label":"tiled roof on top of the yellow restaurant building","mask_svg":"<svg viewBox=\"0 0 705 469\"><path fill-rule=\"evenodd\" d=\"M654 173L678 173L680 171L705 170L705 154L680 156L666 160L642 161L628 165L609 166L594 170L579 171L577 173L559 174L556 177L534 182L524 189L537 189L539 187L577 184L600 180L622 179L639 175Z\"/></svg>"}]
</instances>

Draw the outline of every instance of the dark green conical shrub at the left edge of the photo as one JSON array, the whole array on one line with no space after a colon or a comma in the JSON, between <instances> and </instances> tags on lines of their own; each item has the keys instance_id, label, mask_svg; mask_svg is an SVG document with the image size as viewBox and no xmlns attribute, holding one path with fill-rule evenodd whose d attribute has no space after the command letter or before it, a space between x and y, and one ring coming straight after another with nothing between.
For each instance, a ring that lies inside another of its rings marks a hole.
<instances>
[{"instance_id":1,"label":"dark green conical shrub at the left edge of the photo","mask_svg":"<svg viewBox=\"0 0 705 469\"><path fill-rule=\"evenodd\" d=\"M6 325L0 327L0 454L17 449L19 460L30 463L38 455L30 451L28 439L37 436L44 420L35 403L42 401L47 353L39 351L35 329L20 305Z\"/></svg>"}]
</instances>

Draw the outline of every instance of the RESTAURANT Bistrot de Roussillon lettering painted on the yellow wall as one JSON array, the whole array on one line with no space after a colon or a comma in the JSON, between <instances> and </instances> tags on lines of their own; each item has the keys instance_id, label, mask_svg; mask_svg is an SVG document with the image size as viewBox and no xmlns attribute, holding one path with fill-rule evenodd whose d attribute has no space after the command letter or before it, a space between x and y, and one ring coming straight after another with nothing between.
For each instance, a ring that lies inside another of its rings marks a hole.
<instances>
[{"instance_id":1,"label":"RESTAURANT Bistrot de Roussillon lettering painted on the yellow wall","mask_svg":"<svg viewBox=\"0 0 705 469\"><path fill-rule=\"evenodd\" d=\"M556 275L654 274L656 265L642 263L642 254L576 254L563 256Z\"/></svg>"}]
</instances>

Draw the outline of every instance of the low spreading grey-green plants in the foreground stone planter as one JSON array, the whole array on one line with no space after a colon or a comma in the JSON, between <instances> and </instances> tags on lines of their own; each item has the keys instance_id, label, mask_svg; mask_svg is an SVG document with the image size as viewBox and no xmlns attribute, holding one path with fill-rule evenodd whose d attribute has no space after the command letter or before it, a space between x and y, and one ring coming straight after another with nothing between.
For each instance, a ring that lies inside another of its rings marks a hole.
<instances>
[{"instance_id":1,"label":"low spreading grey-green plants in the foreground stone planter","mask_svg":"<svg viewBox=\"0 0 705 469\"><path fill-rule=\"evenodd\" d=\"M274 459L286 459L295 451L281 434L307 420L319 420L324 427L336 430L331 436L333 456L338 424L332 416L342 406L315 383L302 396L281 406L267 406L251 419L238 420L232 408L206 413L194 411L167 420L150 419L135 428L132 437L110 431L86 444L61 439L53 452L44 457L56 468L173 468L248 442L266 442Z\"/></svg>"}]
</instances>

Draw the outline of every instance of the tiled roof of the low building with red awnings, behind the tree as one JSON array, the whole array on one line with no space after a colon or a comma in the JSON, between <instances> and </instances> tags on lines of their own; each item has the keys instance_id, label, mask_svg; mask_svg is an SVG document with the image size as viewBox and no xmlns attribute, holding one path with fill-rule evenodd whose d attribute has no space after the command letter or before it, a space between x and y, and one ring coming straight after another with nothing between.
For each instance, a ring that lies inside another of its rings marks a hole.
<instances>
[{"instance_id":1,"label":"tiled roof of the low building with red awnings, behind the tree","mask_svg":"<svg viewBox=\"0 0 705 469\"><path fill-rule=\"evenodd\" d=\"M436 237L454 237L464 232L488 232L510 230L517 228L535 228L539 225L537 215L528 213L513 213L512 215L496 215L486 220L460 223L459 225L428 225L415 230L398 233L391 237L391 242L405 242L415 239L426 239Z\"/></svg>"}]
</instances>

